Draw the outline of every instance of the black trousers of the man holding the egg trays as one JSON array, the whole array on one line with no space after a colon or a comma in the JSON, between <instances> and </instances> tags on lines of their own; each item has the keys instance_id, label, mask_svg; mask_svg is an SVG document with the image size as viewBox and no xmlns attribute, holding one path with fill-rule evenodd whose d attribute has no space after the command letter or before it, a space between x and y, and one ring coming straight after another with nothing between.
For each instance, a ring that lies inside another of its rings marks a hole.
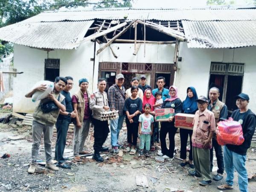
<instances>
[{"instance_id":1,"label":"black trousers of the man holding the egg trays","mask_svg":"<svg viewBox=\"0 0 256 192\"><path fill-rule=\"evenodd\" d=\"M99 153L100 149L102 148L102 145L105 143L109 128L108 128L108 121L100 121L98 119L92 119L93 125L94 125L94 144L93 149L94 153Z\"/></svg>"}]
</instances>

